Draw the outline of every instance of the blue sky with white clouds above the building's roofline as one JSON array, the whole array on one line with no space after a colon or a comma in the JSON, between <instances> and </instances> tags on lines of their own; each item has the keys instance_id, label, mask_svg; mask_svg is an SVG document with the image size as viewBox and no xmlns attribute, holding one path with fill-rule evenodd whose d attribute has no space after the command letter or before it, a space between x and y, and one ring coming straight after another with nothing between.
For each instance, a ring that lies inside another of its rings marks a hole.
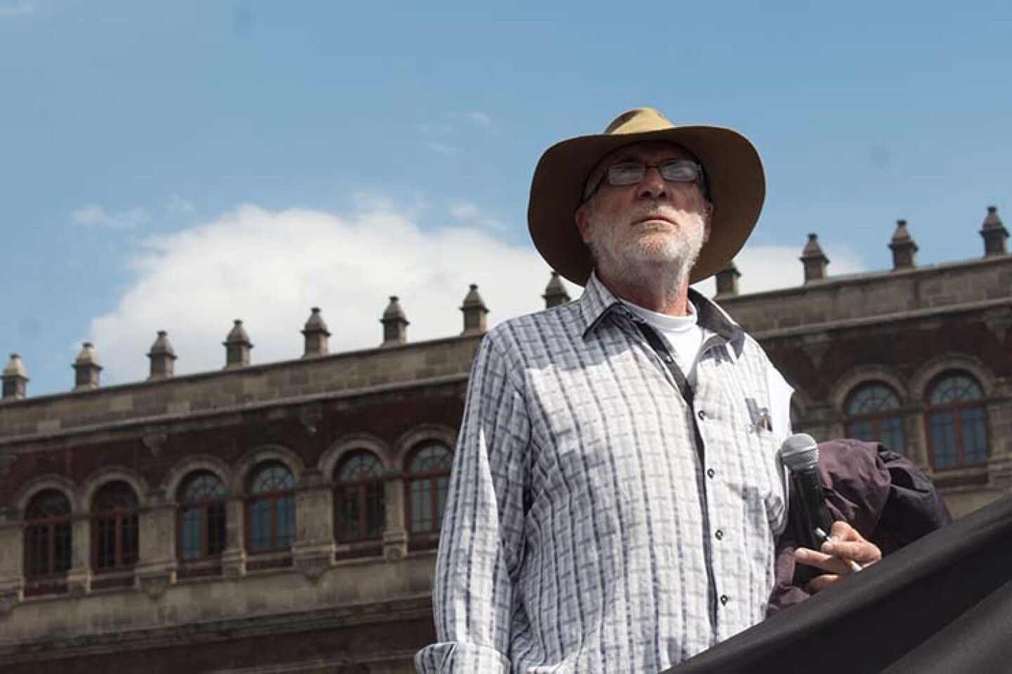
<instances>
[{"instance_id":1,"label":"blue sky with white clouds above the building's roofline","mask_svg":"<svg viewBox=\"0 0 1012 674\"><path fill-rule=\"evenodd\" d=\"M888 268L905 218L932 264L1012 219L1012 5L1002 2L0 0L0 356L30 396L455 334L537 309L530 174L551 144L639 105L730 125L767 172L744 290ZM1012 223L1010 223L1012 224Z\"/></svg>"}]
</instances>

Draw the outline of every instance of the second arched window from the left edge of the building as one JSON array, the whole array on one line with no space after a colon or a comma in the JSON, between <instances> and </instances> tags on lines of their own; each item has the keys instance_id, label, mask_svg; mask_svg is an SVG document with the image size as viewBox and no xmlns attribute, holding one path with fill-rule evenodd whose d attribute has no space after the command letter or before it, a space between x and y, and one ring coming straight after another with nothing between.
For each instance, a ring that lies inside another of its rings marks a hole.
<instances>
[{"instance_id":1,"label":"second arched window from the left edge of the building","mask_svg":"<svg viewBox=\"0 0 1012 674\"><path fill-rule=\"evenodd\" d=\"M91 504L91 560L96 571L129 569L138 557L138 500L125 482L110 482Z\"/></svg>"}]
</instances>

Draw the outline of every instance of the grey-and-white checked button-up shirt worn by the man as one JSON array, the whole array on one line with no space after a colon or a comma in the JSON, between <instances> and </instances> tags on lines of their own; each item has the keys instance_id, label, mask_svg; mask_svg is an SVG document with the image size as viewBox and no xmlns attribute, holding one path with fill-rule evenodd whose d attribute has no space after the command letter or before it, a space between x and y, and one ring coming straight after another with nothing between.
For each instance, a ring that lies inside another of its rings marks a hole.
<instances>
[{"instance_id":1,"label":"grey-and-white checked button-up shirt worn by the man","mask_svg":"<svg viewBox=\"0 0 1012 674\"><path fill-rule=\"evenodd\" d=\"M593 276L485 337L419 672L656 672L763 618L790 390L690 297L707 338L688 377Z\"/></svg>"}]
</instances>

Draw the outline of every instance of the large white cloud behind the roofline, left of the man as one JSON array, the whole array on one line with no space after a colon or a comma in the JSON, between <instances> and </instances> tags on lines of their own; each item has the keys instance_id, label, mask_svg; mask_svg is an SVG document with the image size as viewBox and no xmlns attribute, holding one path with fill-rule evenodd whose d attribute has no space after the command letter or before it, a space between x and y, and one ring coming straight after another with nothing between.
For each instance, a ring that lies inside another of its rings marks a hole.
<instances>
[{"instance_id":1,"label":"large white cloud behind the roofline, left of the man","mask_svg":"<svg viewBox=\"0 0 1012 674\"><path fill-rule=\"evenodd\" d=\"M409 341L420 341L459 334L470 283L479 284L493 325L541 309L550 279L530 247L474 227L424 232L375 202L350 217L242 205L138 245L135 280L89 329L107 384L147 377L158 330L169 333L177 373L215 370L234 319L255 345L253 362L272 362L302 355L311 307L333 333L331 352L347 351L378 346L392 294L411 322Z\"/></svg>"}]
</instances>

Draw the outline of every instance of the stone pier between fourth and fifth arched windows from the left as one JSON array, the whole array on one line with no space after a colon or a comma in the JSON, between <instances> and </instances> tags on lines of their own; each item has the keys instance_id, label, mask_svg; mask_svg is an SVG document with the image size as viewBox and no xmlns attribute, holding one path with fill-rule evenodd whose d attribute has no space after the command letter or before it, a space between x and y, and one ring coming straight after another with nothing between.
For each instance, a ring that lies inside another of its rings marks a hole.
<instances>
[{"instance_id":1,"label":"stone pier between fourth and fifth arched windows from the left","mask_svg":"<svg viewBox=\"0 0 1012 674\"><path fill-rule=\"evenodd\" d=\"M334 560L334 500L320 471L310 469L296 493L296 569L316 582Z\"/></svg>"}]
</instances>

